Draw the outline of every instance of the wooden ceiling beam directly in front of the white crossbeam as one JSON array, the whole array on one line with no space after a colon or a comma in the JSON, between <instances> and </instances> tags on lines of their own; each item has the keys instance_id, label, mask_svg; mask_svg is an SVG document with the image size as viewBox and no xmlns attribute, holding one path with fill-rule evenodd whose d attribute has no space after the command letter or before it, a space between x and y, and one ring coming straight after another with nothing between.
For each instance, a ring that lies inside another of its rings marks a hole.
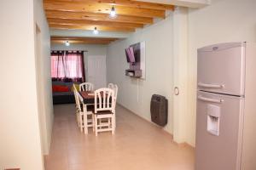
<instances>
[{"instance_id":1,"label":"wooden ceiling beam directly in front of the white crossbeam","mask_svg":"<svg viewBox=\"0 0 256 170\"><path fill-rule=\"evenodd\" d=\"M49 24L49 27L54 29L73 29L73 30L94 30L97 27L98 31L135 31L135 28L131 27L117 27L117 26L81 26L81 25L63 25L63 24Z\"/></svg>"}]
</instances>

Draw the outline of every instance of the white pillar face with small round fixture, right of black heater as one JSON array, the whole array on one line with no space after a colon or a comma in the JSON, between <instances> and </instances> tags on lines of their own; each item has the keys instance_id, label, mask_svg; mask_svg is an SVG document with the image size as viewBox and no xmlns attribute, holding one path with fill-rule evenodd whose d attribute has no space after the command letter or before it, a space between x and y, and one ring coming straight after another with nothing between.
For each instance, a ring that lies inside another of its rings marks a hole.
<instances>
[{"instance_id":1,"label":"white pillar face with small round fixture, right of black heater","mask_svg":"<svg viewBox=\"0 0 256 170\"><path fill-rule=\"evenodd\" d=\"M173 42L173 140L184 143L188 114L188 8L175 8Z\"/></svg>"}]
</instances>

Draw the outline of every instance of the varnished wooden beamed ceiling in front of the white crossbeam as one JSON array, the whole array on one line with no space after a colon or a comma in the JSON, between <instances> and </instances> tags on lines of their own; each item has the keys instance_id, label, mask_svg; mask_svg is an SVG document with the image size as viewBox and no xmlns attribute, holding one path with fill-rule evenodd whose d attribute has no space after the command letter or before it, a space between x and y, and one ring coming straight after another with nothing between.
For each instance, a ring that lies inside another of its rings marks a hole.
<instances>
[{"instance_id":1,"label":"varnished wooden beamed ceiling in front of the white crossbeam","mask_svg":"<svg viewBox=\"0 0 256 170\"><path fill-rule=\"evenodd\" d=\"M110 18L113 7L117 15ZM92 31L96 27L98 31L132 32L153 24L154 18L165 19L166 10L173 9L169 4L134 0L44 0L49 27L66 30Z\"/></svg>"}]
</instances>

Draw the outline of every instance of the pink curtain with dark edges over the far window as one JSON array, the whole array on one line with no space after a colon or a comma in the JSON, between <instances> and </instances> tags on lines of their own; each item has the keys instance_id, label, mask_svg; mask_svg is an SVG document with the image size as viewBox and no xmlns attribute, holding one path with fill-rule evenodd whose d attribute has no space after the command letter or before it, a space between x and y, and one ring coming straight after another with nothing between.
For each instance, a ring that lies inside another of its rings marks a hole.
<instances>
[{"instance_id":1,"label":"pink curtain with dark edges over the far window","mask_svg":"<svg viewBox=\"0 0 256 170\"><path fill-rule=\"evenodd\" d=\"M73 82L84 82L83 52L52 52L51 77L57 80L71 79Z\"/></svg>"}]
</instances>

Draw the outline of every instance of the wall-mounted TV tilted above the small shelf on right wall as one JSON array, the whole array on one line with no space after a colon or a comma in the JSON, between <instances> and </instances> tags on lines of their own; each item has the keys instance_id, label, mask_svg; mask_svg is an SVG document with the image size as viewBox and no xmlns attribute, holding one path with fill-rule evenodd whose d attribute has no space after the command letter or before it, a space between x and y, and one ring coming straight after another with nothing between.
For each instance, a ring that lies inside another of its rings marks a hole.
<instances>
[{"instance_id":1,"label":"wall-mounted TV tilted above the small shelf on right wall","mask_svg":"<svg viewBox=\"0 0 256 170\"><path fill-rule=\"evenodd\" d=\"M125 48L126 59L128 63L140 62L141 59L141 45L136 43L129 48Z\"/></svg>"}]
</instances>

